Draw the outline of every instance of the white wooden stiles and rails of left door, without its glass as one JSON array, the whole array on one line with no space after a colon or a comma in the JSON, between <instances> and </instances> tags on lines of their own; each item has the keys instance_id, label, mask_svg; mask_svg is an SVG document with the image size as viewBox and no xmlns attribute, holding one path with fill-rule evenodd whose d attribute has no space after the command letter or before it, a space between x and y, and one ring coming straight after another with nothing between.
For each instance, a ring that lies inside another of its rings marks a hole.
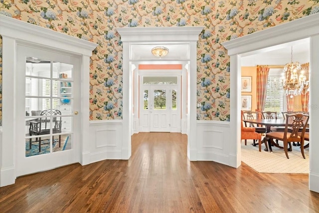
<instances>
[{"instance_id":1,"label":"white wooden stiles and rails of left door, without its glass","mask_svg":"<svg viewBox=\"0 0 319 213\"><path fill-rule=\"evenodd\" d=\"M74 70L79 70L80 68L80 58L79 57L73 57L69 55L64 55L60 51L59 52L53 52L53 51L47 51L43 49L38 49L38 48L32 48L31 46L25 46L25 45L17 45L17 61L16 61L16 67L17 67L17 74L15 81L16 83L16 88L14 90L16 91L16 106L15 106L15 113L16 114L16 126L14 127L15 129L25 129L25 87L21 86L25 84L25 69L26 69L26 61L25 57L26 56L32 56L36 58L46 58L50 59L56 62L62 62L62 63L68 63L72 64L72 67ZM44 64L34 64L36 67L37 65L41 65L41 68L46 68L49 70L48 73L53 72L53 68L51 69L51 63L44 63ZM47 65L47 66L45 66ZM55 70L56 71L56 70ZM76 73L75 71L72 73L72 79L74 82L72 82L72 87L74 88L73 90L73 97L72 97L72 108L74 107L75 109L79 109L80 106L80 101L79 101L79 74ZM57 73L58 75L58 73ZM34 76L34 75L33 75ZM44 75L43 75L44 76ZM45 76L46 77L46 76ZM48 77L51 77L50 75ZM40 85L37 85L36 87L41 88ZM42 96L40 94L37 94L38 96ZM33 96L35 96L33 94ZM48 96L47 98L52 98L55 99L54 96ZM40 100L40 99L39 99ZM71 106L71 105L69 105ZM39 107L39 106L37 106ZM42 109L41 108L37 109ZM59 109L59 108L56 108ZM44 109L42 109L44 110ZM30 112L30 111L29 111ZM63 115L63 112L62 112ZM79 117L77 115L69 115L70 117L73 117L73 130L69 130L69 133L72 134L72 139L71 139L71 146L72 149L69 150L64 150L62 152L55 152L54 154L46 154L46 155L36 155L33 157L25 157L25 144L21 143L25 141L25 132L18 131L17 134L15 135L16 137L16 146L15 146L15 171L16 171L16 176L22 176L22 175L27 175L27 174L32 174L36 172L41 172L41 171L46 171L50 169L54 169L57 167L65 166L68 164L73 164L79 162L79 132L77 131L79 129L78 123L79 123ZM63 119L66 117L62 118ZM61 133L61 134L65 134ZM34 137L34 136L33 136ZM58 137L58 136L55 136ZM50 137L51 140L52 137ZM27 139L28 140L28 139ZM34 138L32 139L34 140ZM53 143L53 142L52 142Z\"/></svg>"}]
</instances>

